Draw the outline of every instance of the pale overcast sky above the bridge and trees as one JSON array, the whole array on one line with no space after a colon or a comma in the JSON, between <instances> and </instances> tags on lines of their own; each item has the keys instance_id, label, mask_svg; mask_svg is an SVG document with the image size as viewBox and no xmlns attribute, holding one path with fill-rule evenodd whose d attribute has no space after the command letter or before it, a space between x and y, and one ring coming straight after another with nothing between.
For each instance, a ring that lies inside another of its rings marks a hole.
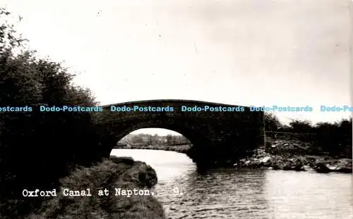
<instances>
[{"instance_id":1,"label":"pale overcast sky above the bridge and trees","mask_svg":"<svg viewBox=\"0 0 353 219\"><path fill-rule=\"evenodd\" d=\"M281 120L334 121L351 105L346 0L16 1L32 49L80 75L97 101L193 99L313 106Z\"/></svg>"}]
</instances>

